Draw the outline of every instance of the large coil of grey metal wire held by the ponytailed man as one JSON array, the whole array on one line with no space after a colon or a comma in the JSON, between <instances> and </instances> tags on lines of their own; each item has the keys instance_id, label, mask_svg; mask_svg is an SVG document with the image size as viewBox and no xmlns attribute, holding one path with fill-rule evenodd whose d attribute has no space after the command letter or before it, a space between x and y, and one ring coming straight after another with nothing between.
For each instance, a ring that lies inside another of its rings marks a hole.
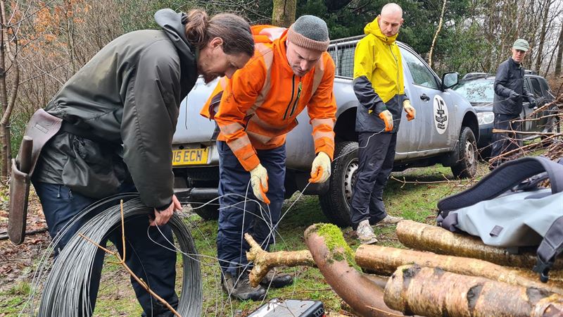
<instances>
[{"instance_id":1,"label":"large coil of grey metal wire held by the ponytailed man","mask_svg":"<svg viewBox=\"0 0 563 317\"><path fill-rule=\"evenodd\" d=\"M87 223L79 232L96 244L101 244L108 232L121 225L119 201L123 199L123 218L127 221L139 215L148 215L152 209L144 206L138 194L115 195L85 209L81 216L94 210L104 210ZM106 207L110 206L106 209ZM73 219L68 227L76 223ZM203 302L201 269L194 240L189 228L177 214L169 222L175 235L178 249L182 251L183 279L177 312L181 316L201 316ZM60 235L59 235L60 236ZM58 239L53 240L56 244ZM167 246L171 249L172 245ZM88 294L89 278L98 246L75 235L58 255L49 277L44 283L41 302L37 316L89 316ZM42 268L44 270L44 268ZM39 276L41 273L39 273ZM33 311L33 309L32 309Z\"/></svg>"}]
</instances>

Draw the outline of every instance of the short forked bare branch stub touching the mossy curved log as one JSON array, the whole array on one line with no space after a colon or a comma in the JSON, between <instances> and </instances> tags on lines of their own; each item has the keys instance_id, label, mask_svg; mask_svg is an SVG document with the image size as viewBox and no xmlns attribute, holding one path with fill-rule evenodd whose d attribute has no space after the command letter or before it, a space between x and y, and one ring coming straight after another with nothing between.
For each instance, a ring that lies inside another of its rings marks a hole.
<instances>
[{"instance_id":1,"label":"short forked bare branch stub touching the mossy curved log","mask_svg":"<svg viewBox=\"0 0 563 317\"><path fill-rule=\"evenodd\" d=\"M255 242L253 237L248 235L248 233L244 234L244 239L246 239L246 242L251 246L251 249L246 252L246 259L252 261L254 265L251 273L248 275L253 287L258 286L262 278L264 278L272 268L277 266L317 266L308 250L270 253L264 251L260 247L260 244Z\"/></svg>"}]
</instances>

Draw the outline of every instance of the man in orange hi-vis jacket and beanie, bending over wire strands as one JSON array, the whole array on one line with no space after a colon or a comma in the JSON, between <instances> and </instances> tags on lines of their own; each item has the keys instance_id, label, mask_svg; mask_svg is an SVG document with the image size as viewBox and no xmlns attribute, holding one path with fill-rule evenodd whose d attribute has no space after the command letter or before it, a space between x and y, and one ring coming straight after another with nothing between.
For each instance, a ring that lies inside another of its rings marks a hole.
<instances>
[{"instance_id":1,"label":"man in orange hi-vis jacket and beanie, bending over wire strands","mask_svg":"<svg viewBox=\"0 0 563 317\"><path fill-rule=\"evenodd\" d=\"M223 78L208 101L220 98L215 121L220 128L217 254L222 285L241 300L265 297L262 286L248 284L249 248L243 233L264 249L274 242L285 194L286 134L306 106L317 154L310 182L324 182L330 175L336 120L327 24L303 15L289 29L257 25L253 34L254 57L230 80ZM202 114L207 110L205 106ZM262 209L255 199L265 203ZM290 275L270 273L261 284L282 287L292 282Z\"/></svg>"}]
</instances>

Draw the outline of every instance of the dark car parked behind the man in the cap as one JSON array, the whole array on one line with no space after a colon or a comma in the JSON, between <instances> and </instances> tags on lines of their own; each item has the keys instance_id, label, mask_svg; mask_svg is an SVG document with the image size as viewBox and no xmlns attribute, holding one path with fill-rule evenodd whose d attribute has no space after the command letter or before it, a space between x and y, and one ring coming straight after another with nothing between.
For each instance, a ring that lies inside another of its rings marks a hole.
<instances>
[{"instance_id":1,"label":"dark car parked behind the man in the cap","mask_svg":"<svg viewBox=\"0 0 563 317\"><path fill-rule=\"evenodd\" d=\"M495 75L486 73L469 73L465 75L460 82L452 89L458 94L465 97L474 106L479 121L479 142L477 146L481 149L481 156L486 157L491 151L491 139L493 137L493 103L495 98ZM556 116L546 117L550 114L557 113L557 106L536 111L541 106L555 100L555 95L551 91L548 82L544 77L535 75L526 70L524 75L524 85L533 98L536 99L537 105L524 101L521 119L526 120L521 124L521 130L524 132L559 132L559 120ZM536 139L540 135L526 134L520 135L521 139Z\"/></svg>"}]
</instances>

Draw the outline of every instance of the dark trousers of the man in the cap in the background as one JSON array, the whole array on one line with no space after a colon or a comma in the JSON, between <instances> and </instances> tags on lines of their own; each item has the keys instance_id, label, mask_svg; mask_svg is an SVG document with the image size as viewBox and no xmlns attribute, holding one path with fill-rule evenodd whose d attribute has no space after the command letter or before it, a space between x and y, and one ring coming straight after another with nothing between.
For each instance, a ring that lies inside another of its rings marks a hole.
<instances>
[{"instance_id":1,"label":"dark trousers of the man in the cap in the background","mask_svg":"<svg viewBox=\"0 0 563 317\"><path fill-rule=\"evenodd\" d=\"M495 113L495 120L493 123L494 129L499 130L512 130L514 132L509 133L493 133L493 144L491 148L491 158L493 158L493 164L499 165L502 161L506 161L507 158L502 158L500 160L495 160L495 156L518 149L521 145L521 140L517 139L516 132L520 130L520 124L511 123L511 120L519 118L518 115L507 115L502 113Z\"/></svg>"}]
</instances>

